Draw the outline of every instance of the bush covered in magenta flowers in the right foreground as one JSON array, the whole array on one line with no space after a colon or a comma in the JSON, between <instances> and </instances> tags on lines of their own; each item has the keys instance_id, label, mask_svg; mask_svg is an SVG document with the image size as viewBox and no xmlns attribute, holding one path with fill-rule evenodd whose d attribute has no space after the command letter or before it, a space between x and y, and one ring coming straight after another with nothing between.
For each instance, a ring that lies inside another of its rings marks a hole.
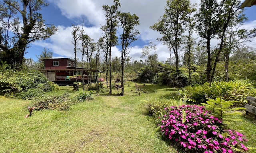
<instances>
[{"instance_id":1,"label":"bush covered in magenta flowers in the right foreground","mask_svg":"<svg viewBox=\"0 0 256 153\"><path fill-rule=\"evenodd\" d=\"M161 131L188 152L236 153L248 148L247 141L238 131L223 129L222 121L206 111L204 106L183 105L165 108Z\"/></svg>"}]
</instances>

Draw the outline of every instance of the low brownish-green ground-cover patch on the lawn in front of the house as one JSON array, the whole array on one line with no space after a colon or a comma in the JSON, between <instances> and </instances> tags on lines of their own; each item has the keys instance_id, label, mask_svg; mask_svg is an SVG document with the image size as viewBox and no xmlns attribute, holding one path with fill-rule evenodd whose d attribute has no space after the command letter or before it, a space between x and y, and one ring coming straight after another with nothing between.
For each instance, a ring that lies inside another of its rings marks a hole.
<instances>
[{"instance_id":1,"label":"low brownish-green ground-cover patch on the lawn in front of the house","mask_svg":"<svg viewBox=\"0 0 256 153\"><path fill-rule=\"evenodd\" d=\"M32 107L38 109L50 109L50 110L69 110L70 106L76 101L69 98L70 95L63 94L60 96L40 96L32 101Z\"/></svg>"}]
</instances>

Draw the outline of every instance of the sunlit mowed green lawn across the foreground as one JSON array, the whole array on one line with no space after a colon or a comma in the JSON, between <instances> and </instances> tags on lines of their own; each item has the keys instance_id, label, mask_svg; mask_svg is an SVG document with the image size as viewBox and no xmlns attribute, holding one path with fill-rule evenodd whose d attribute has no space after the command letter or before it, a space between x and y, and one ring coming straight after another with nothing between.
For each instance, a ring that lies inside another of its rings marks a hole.
<instances>
[{"instance_id":1,"label":"sunlit mowed green lawn across the foreground","mask_svg":"<svg viewBox=\"0 0 256 153\"><path fill-rule=\"evenodd\" d=\"M1 153L176 153L158 133L141 100L171 96L171 89L147 85L147 93L126 87L125 96L108 93L68 111L35 111L27 119L28 100L0 97ZM62 91L72 87L62 87ZM62 92L60 91L60 92ZM116 90L113 90L116 93Z\"/></svg>"}]
</instances>

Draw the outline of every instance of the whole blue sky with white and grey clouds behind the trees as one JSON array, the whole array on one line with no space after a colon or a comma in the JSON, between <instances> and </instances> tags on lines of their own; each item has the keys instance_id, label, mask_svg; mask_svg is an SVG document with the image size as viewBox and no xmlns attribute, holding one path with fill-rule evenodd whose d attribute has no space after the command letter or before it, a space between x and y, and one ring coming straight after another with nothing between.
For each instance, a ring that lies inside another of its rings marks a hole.
<instances>
[{"instance_id":1,"label":"whole blue sky with white and grey clouds behind the trees","mask_svg":"<svg viewBox=\"0 0 256 153\"><path fill-rule=\"evenodd\" d=\"M40 55L44 48L49 49L54 54L54 58L74 58L74 46L72 44L72 25L82 26L92 39L98 41L102 35L101 25L105 24L104 11L102 5L113 4L113 0L46 0L50 5L42 8L42 16L46 24L54 24L58 27L58 32L46 41L37 41L27 49L26 58L33 58L37 61L36 55ZM132 43L130 56L134 60L140 60L142 48L148 45L150 41L156 44L158 58L160 61L166 61L170 54L167 47L156 38L161 37L157 31L149 27L158 21L164 14L166 0L120 0L121 12L130 12L136 14L140 19L140 25L137 29L140 35L137 41ZM200 0L191 0L192 4L200 4ZM256 6L246 8L246 17L249 21L244 27L251 29L256 27ZM256 47L256 39L250 44ZM118 47L112 49L112 57L120 57ZM81 53L78 53L78 59L82 59Z\"/></svg>"}]
</instances>

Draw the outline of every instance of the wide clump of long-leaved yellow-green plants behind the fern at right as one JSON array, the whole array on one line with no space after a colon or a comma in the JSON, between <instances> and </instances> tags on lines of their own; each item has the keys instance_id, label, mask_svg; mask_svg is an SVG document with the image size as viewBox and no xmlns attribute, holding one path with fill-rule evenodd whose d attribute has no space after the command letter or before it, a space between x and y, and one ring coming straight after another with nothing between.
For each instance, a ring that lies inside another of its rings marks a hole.
<instances>
[{"instance_id":1,"label":"wide clump of long-leaved yellow-green plants behind the fern at right","mask_svg":"<svg viewBox=\"0 0 256 153\"><path fill-rule=\"evenodd\" d=\"M181 95L186 95L190 101L200 104L206 102L206 98L215 99L220 97L224 100L239 101L236 106L243 106L246 96L255 96L256 89L248 80L215 81L212 86L208 83L196 86L186 86Z\"/></svg>"}]
</instances>

